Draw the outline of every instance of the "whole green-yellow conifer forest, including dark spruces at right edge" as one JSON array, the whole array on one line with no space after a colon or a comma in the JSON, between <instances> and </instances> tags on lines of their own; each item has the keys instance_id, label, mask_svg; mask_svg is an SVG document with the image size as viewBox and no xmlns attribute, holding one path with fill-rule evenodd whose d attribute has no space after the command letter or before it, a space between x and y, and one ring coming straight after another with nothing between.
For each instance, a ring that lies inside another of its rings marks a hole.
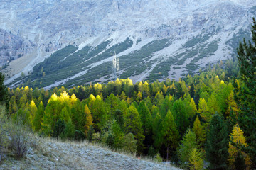
<instances>
[{"instance_id":1,"label":"whole green-yellow conifer forest, including dark spruces at right edge","mask_svg":"<svg viewBox=\"0 0 256 170\"><path fill-rule=\"evenodd\" d=\"M254 169L255 20L252 41L240 43L238 60L179 81L9 89L8 115L39 135L157 155L184 169Z\"/></svg>"}]
</instances>

